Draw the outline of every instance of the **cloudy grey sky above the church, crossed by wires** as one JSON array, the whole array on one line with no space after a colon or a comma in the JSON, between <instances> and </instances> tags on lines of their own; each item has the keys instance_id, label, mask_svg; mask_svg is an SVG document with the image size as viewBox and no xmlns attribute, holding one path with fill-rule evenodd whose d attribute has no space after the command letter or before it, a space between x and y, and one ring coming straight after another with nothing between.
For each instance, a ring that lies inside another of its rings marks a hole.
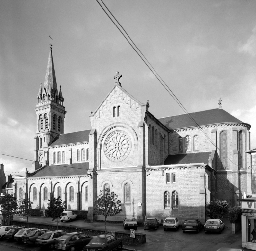
<instances>
[{"instance_id":1,"label":"cloudy grey sky above the church, crossed by wires","mask_svg":"<svg viewBox=\"0 0 256 251\"><path fill-rule=\"evenodd\" d=\"M256 147L255 0L105 0L189 112L218 107L249 123ZM90 129L89 114L114 85L157 118L183 113L95 0L0 1L0 153L33 160L34 107L51 34L65 132ZM6 174L32 162L0 155Z\"/></svg>"}]
</instances>

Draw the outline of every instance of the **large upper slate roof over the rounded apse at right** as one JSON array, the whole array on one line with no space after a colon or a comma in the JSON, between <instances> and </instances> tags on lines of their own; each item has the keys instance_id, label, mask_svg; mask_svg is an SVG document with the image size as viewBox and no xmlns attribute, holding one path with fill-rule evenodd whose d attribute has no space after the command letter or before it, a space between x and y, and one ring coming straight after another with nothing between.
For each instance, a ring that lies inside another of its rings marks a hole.
<instances>
[{"instance_id":1,"label":"large upper slate roof over the rounded apse at right","mask_svg":"<svg viewBox=\"0 0 256 251\"><path fill-rule=\"evenodd\" d=\"M235 118L230 113L218 108L201 112L193 112L189 114L199 126L228 122L243 123L241 120ZM187 114L160 118L158 120L169 129L179 129L197 126Z\"/></svg>"}]
</instances>

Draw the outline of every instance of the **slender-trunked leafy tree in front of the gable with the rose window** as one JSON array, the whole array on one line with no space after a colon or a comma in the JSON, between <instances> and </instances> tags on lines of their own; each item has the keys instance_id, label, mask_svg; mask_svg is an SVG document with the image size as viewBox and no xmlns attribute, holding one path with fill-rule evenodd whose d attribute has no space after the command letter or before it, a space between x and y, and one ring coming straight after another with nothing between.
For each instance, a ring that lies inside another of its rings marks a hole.
<instances>
[{"instance_id":1,"label":"slender-trunked leafy tree in front of the gable with the rose window","mask_svg":"<svg viewBox=\"0 0 256 251\"><path fill-rule=\"evenodd\" d=\"M108 216L115 216L119 214L122 209L121 201L118 199L118 195L114 192L110 193L110 189L106 188L100 191L100 195L98 195L98 199L94 206L94 212L96 215L103 215L105 217L105 232L106 232L106 219ZM107 232L106 232L107 233Z\"/></svg>"}]
</instances>

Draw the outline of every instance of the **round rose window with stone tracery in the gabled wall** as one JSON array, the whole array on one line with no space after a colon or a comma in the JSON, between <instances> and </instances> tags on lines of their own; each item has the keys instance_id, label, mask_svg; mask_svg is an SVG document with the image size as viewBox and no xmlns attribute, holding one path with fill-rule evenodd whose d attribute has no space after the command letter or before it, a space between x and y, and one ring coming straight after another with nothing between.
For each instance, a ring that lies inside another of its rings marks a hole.
<instances>
[{"instance_id":1,"label":"round rose window with stone tracery in the gabled wall","mask_svg":"<svg viewBox=\"0 0 256 251\"><path fill-rule=\"evenodd\" d=\"M130 153L130 138L123 131L115 131L107 137L104 149L110 160L122 161Z\"/></svg>"}]
</instances>

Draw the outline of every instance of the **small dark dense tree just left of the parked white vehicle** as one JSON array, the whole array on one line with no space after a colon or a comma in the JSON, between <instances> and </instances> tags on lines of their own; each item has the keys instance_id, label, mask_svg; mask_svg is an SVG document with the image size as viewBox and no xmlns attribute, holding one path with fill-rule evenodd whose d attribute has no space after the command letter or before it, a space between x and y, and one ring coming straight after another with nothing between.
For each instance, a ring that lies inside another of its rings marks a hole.
<instances>
[{"instance_id":1,"label":"small dark dense tree just left of the parked white vehicle","mask_svg":"<svg viewBox=\"0 0 256 251\"><path fill-rule=\"evenodd\" d=\"M65 203L62 202L60 196L58 198L51 198L48 203L48 215L51 217L51 220L57 220L57 230L58 230L58 218L61 218L64 215Z\"/></svg>"}]
</instances>

